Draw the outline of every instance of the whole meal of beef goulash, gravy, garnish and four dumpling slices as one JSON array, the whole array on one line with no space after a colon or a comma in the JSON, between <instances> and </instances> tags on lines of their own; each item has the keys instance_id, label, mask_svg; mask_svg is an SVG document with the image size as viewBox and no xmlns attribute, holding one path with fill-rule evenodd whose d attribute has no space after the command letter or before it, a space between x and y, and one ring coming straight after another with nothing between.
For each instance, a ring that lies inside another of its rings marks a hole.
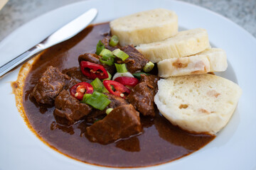
<instances>
[{"instance_id":1,"label":"whole meal of beef goulash, gravy, garnish and four dumpling slices","mask_svg":"<svg viewBox=\"0 0 256 170\"><path fill-rule=\"evenodd\" d=\"M16 98L31 130L58 152L151 166L201 149L228 123L242 91L212 73L227 67L205 29L178 32L176 13L159 8L45 50L21 69Z\"/></svg>"}]
</instances>

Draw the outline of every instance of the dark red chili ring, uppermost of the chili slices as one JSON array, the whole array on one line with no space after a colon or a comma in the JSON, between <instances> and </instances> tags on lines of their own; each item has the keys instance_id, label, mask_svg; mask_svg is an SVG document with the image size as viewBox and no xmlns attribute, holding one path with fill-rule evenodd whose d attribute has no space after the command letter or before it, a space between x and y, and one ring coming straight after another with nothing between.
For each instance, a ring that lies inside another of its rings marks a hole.
<instances>
[{"instance_id":1,"label":"dark red chili ring, uppermost of the chili slices","mask_svg":"<svg viewBox=\"0 0 256 170\"><path fill-rule=\"evenodd\" d=\"M80 67L82 74L89 79L107 79L109 77L107 70L101 64L82 61L80 62Z\"/></svg>"}]
</instances>

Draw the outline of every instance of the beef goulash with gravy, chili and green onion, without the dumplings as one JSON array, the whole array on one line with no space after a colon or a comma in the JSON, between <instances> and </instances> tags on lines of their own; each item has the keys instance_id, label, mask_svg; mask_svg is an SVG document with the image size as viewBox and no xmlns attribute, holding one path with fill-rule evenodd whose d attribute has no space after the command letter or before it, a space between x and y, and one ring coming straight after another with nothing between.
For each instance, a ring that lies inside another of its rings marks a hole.
<instances>
[{"instance_id":1,"label":"beef goulash with gravy, chili and green onion, without the dumplings","mask_svg":"<svg viewBox=\"0 0 256 170\"><path fill-rule=\"evenodd\" d=\"M156 65L100 23L41 53L26 77L23 106L42 140L69 157L114 167L161 164L215 136L166 120L154 104L158 81Z\"/></svg>"}]
</instances>

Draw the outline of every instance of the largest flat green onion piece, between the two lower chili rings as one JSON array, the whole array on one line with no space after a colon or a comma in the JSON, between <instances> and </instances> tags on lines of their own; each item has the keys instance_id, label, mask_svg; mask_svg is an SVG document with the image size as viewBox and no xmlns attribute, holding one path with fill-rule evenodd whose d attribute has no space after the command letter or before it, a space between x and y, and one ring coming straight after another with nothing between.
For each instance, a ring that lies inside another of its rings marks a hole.
<instances>
[{"instance_id":1,"label":"largest flat green onion piece, between the two lower chili rings","mask_svg":"<svg viewBox=\"0 0 256 170\"><path fill-rule=\"evenodd\" d=\"M86 99L85 103L93 108L103 111L111 103L111 101L106 97L105 94L94 91L93 94Z\"/></svg>"}]
</instances>

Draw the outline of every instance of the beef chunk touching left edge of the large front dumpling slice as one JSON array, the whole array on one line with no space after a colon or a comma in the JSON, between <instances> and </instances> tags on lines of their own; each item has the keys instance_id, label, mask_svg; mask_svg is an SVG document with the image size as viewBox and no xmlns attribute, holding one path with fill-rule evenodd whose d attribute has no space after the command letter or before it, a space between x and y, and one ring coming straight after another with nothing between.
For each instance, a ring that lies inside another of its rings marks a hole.
<instances>
[{"instance_id":1,"label":"beef chunk touching left edge of the large front dumpling slice","mask_svg":"<svg viewBox=\"0 0 256 170\"><path fill-rule=\"evenodd\" d=\"M131 103L142 115L154 116L154 93L146 82L141 82L134 86L127 96L127 101Z\"/></svg>"}]
</instances>

